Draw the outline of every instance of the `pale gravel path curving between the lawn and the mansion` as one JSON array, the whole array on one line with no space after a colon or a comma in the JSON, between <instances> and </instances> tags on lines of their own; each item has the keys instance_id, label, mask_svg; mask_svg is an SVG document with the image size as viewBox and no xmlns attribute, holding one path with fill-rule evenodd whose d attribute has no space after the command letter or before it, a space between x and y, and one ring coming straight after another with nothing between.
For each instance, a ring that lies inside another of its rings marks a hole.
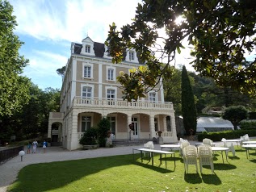
<instances>
[{"instance_id":1,"label":"pale gravel path curving between the lawn and the mansion","mask_svg":"<svg viewBox=\"0 0 256 192\"><path fill-rule=\"evenodd\" d=\"M189 141L191 144L199 143L198 141ZM236 144L236 143L235 143ZM221 146L222 142L217 142L216 146ZM76 150L68 151L61 147L46 148L43 153L43 148L37 148L36 154L26 154L21 157L15 157L10 161L0 165L0 192L6 192L8 186L15 182L19 170L31 164L52 162L52 161L69 161L94 157L108 157L116 155L132 154L132 148L141 148L144 144L136 146L118 146L115 148L98 148L93 150ZM159 144L154 145L155 149L160 149ZM25 152L27 152L25 148Z\"/></svg>"}]
</instances>

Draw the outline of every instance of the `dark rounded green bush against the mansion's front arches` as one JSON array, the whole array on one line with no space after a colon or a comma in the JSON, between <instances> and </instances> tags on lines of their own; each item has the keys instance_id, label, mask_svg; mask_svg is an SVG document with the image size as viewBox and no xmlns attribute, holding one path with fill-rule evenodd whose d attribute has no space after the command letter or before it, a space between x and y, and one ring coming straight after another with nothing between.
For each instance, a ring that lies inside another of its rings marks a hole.
<instances>
[{"instance_id":1,"label":"dark rounded green bush against the mansion's front arches","mask_svg":"<svg viewBox=\"0 0 256 192\"><path fill-rule=\"evenodd\" d=\"M79 144L83 145L83 149L99 148L97 139L98 130L95 127L91 127L89 130L85 131L85 134L79 140Z\"/></svg>"}]
</instances>

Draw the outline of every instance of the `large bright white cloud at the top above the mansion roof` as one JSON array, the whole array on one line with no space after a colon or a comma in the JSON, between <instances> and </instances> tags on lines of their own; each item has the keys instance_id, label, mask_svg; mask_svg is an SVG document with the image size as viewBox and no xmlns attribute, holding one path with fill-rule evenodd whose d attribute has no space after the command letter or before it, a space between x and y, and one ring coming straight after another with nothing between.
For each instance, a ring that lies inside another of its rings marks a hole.
<instances>
[{"instance_id":1,"label":"large bright white cloud at the top above the mansion roof","mask_svg":"<svg viewBox=\"0 0 256 192\"><path fill-rule=\"evenodd\" d=\"M107 38L108 25L130 23L139 0L23 0L14 6L16 32L39 40L81 41L89 33L94 41ZM99 35L100 34L100 35Z\"/></svg>"}]
</instances>

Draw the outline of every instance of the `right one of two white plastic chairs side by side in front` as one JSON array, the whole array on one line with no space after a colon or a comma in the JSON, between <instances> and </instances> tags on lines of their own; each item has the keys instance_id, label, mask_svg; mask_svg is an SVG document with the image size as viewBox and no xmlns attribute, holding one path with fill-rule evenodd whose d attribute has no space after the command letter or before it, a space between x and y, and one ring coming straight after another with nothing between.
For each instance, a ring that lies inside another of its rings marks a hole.
<instances>
[{"instance_id":1,"label":"right one of two white plastic chairs side by side in front","mask_svg":"<svg viewBox=\"0 0 256 192\"><path fill-rule=\"evenodd\" d=\"M214 173L213 166L213 156L212 156L212 148L208 145L200 145L198 147L198 158L199 158L199 166L200 172L202 173L203 165L210 165L212 169L212 174Z\"/></svg>"}]
</instances>

